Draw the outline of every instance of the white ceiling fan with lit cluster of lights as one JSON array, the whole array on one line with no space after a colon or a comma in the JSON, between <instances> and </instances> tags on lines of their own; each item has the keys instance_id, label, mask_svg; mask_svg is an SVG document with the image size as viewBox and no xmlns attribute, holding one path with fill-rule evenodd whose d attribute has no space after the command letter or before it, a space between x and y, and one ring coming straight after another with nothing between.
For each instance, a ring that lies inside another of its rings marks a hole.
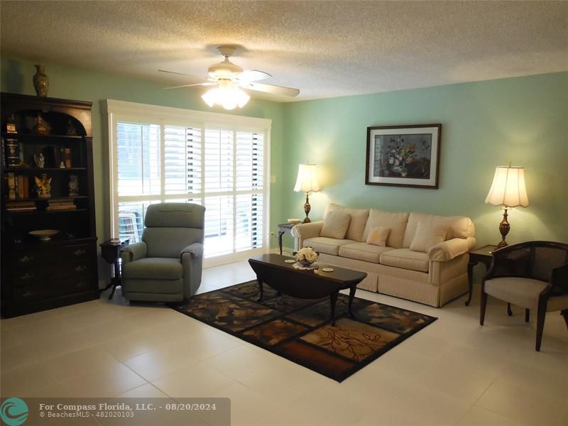
<instances>
[{"instance_id":1,"label":"white ceiling fan with lit cluster of lights","mask_svg":"<svg viewBox=\"0 0 568 426\"><path fill-rule=\"evenodd\" d=\"M165 87L165 89L180 89L182 87L192 86L217 86L205 93L202 99L209 107L213 107L214 104L220 104L224 109L234 109L237 106L241 108L244 107L246 102L249 102L249 95L243 92L241 88L290 97L297 96L300 93L300 89L294 89L293 87L258 83L258 80L265 80L272 76L268 74L268 72L258 70L244 71L239 65L231 62L229 58L235 53L236 48L234 46L223 45L219 46L217 49L225 59L222 62L211 65L207 70L207 77L195 77L182 74L181 72L158 70L159 72L186 75L196 80L204 80L200 83Z\"/></svg>"}]
</instances>

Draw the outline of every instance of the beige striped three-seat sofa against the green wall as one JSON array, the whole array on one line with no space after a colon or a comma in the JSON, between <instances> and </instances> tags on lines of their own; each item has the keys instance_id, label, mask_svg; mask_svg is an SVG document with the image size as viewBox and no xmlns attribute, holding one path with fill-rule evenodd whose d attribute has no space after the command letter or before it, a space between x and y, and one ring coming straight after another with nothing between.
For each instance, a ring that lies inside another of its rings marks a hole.
<instances>
[{"instance_id":1,"label":"beige striped three-seat sofa against the green wall","mask_svg":"<svg viewBox=\"0 0 568 426\"><path fill-rule=\"evenodd\" d=\"M393 213L328 204L324 220L329 212L346 212L351 217L343 239L320 236L324 221L298 224L292 234L298 246L311 246L320 253L321 263L366 272L367 278L359 288L435 307L467 292L467 252L476 242L475 226L469 217ZM425 252L410 250L419 223L420 235L429 226L447 229L445 241ZM385 246L366 243L369 232L376 226L390 229Z\"/></svg>"}]
</instances>

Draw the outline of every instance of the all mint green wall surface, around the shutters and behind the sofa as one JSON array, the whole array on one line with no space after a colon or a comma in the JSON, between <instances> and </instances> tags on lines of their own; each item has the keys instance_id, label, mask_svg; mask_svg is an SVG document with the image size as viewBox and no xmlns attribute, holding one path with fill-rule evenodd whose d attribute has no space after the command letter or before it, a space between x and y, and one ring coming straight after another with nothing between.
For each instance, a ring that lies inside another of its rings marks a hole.
<instances>
[{"instance_id":1,"label":"all mint green wall surface, around the shutters and behind the sofa","mask_svg":"<svg viewBox=\"0 0 568 426\"><path fill-rule=\"evenodd\" d=\"M34 62L0 58L0 89L34 94ZM165 91L163 84L46 63L52 97L93 102L97 231L108 237L107 140L104 99L210 111L199 92ZM223 109L215 109L226 112ZM302 217L292 191L297 164L318 163L322 192L310 217L327 202L390 211L465 214L479 244L498 241L501 210L484 204L496 165L524 165L530 205L510 212L510 243L568 241L568 72L452 84L356 97L279 104L251 99L233 114L272 119L271 229ZM438 190L364 185L367 126L442 123ZM285 236L285 246L292 246Z\"/></svg>"}]
</instances>

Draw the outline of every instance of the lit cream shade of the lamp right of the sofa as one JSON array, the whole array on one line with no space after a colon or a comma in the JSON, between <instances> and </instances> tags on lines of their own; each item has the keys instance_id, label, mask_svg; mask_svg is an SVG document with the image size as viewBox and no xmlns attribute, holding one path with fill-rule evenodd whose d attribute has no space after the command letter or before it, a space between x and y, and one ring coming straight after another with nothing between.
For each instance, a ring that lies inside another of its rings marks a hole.
<instances>
[{"instance_id":1,"label":"lit cream shade of the lamp right of the sofa","mask_svg":"<svg viewBox=\"0 0 568 426\"><path fill-rule=\"evenodd\" d=\"M500 166L495 170L491 189L485 199L486 204L504 207L528 206L525 187L525 168Z\"/></svg>"}]
</instances>

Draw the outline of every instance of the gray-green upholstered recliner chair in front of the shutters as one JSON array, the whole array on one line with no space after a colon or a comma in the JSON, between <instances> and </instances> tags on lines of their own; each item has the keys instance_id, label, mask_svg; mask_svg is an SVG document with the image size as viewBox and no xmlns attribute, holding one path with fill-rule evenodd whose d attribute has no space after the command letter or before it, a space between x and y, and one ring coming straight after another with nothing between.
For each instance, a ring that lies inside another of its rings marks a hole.
<instances>
[{"instance_id":1,"label":"gray-green upholstered recliner chair in front of the shutters","mask_svg":"<svg viewBox=\"0 0 568 426\"><path fill-rule=\"evenodd\" d=\"M151 204L142 241L121 251L122 293L129 300L180 302L201 284L205 208Z\"/></svg>"}]
</instances>

